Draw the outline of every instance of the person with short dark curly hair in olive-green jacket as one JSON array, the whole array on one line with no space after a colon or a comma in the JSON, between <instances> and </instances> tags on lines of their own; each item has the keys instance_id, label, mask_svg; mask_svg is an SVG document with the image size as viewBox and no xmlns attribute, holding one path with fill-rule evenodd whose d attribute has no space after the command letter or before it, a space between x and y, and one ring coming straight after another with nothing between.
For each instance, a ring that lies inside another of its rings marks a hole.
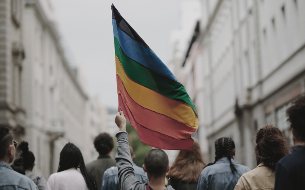
<instances>
[{"instance_id":1,"label":"person with short dark curly hair in olive-green jacket","mask_svg":"<svg viewBox=\"0 0 305 190\"><path fill-rule=\"evenodd\" d=\"M104 172L110 167L117 166L117 163L110 157L114 144L108 133L101 133L96 136L93 144L96 151L99 152L99 157L97 160L86 164L86 168L95 178L98 190L100 190Z\"/></svg>"}]
</instances>

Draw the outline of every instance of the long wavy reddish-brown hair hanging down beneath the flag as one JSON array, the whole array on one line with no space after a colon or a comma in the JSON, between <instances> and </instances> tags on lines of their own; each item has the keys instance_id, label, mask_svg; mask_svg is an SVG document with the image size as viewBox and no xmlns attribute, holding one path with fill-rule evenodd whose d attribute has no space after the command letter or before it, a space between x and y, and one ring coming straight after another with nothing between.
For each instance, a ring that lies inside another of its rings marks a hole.
<instances>
[{"instance_id":1,"label":"long wavy reddish-brown hair hanging down beneath the flag","mask_svg":"<svg viewBox=\"0 0 305 190\"><path fill-rule=\"evenodd\" d=\"M204 166L199 142L194 139L193 150L180 150L169 174L171 178L185 183L197 183Z\"/></svg>"}]
</instances>

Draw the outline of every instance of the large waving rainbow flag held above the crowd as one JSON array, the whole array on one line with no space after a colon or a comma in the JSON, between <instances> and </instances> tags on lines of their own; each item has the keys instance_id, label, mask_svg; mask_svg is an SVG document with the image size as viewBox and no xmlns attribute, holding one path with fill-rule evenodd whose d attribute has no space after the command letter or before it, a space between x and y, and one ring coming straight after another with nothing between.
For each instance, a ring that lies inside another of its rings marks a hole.
<instances>
[{"instance_id":1,"label":"large waving rainbow flag held above the crowd","mask_svg":"<svg viewBox=\"0 0 305 190\"><path fill-rule=\"evenodd\" d=\"M184 86L111 5L117 93L142 142L167 150L192 150L197 110Z\"/></svg>"}]
</instances>

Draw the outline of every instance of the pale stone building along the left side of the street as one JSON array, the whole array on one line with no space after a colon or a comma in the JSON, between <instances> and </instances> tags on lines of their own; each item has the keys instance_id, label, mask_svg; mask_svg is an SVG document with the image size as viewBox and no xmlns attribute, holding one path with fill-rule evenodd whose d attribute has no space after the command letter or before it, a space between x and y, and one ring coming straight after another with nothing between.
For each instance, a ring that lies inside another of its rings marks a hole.
<instances>
[{"instance_id":1,"label":"pale stone building along the left side of the street","mask_svg":"<svg viewBox=\"0 0 305 190\"><path fill-rule=\"evenodd\" d=\"M29 142L34 172L57 171L67 142L95 160L93 140L107 131L107 108L90 98L81 70L70 63L50 0L0 1L0 123Z\"/></svg>"}]
</instances>

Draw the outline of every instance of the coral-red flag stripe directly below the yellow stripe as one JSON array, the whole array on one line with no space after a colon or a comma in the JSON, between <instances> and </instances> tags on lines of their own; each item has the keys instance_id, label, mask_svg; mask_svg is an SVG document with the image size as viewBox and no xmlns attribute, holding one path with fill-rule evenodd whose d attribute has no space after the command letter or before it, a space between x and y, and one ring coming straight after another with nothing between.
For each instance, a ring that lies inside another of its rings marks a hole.
<instances>
[{"instance_id":1,"label":"coral-red flag stripe directly below the yellow stripe","mask_svg":"<svg viewBox=\"0 0 305 190\"><path fill-rule=\"evenodd\" d=\"M137 104L126 91L123 82L117 75L117 88L118 94L123 96L124 102L127 103L128 108L131 110L135 120L140 125L172 138L183 140L191 138L191 134L196 131L195 128L188 127L168 116L156 113L150 109L144 108ZM149 101L149 100L148 100Z\"/></svg>"}]
</instances>

